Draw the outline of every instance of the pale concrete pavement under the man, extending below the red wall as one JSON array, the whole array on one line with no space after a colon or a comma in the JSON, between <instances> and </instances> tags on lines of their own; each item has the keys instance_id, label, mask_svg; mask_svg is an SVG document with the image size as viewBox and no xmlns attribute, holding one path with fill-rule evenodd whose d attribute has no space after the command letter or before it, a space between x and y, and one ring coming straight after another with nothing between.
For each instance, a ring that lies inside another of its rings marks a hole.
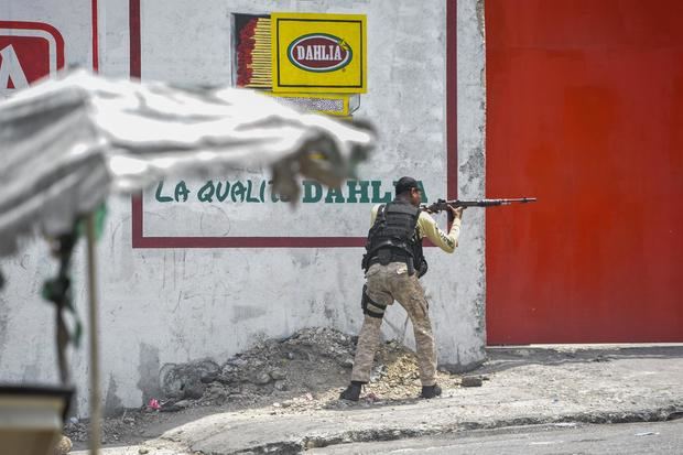
<instances>
[{"instance_id":1,"label":"pale concrete pavement under the man, extending below the red wall","mask_svg":"<svg viewBox=\"0 0 683 455\"><path fill-rule=\"evenodd\" d=\"M683 416L682 345L527 346L488 351L489 360L473 372L485 379L481 387L451 388L437 399L371 398L305 411L270 405L216 413L166 426L170 430L140 445L107 447L102 453L294 454L349 443L362 453L357 443L520 425Z\"/></svg>"}]
</instances>

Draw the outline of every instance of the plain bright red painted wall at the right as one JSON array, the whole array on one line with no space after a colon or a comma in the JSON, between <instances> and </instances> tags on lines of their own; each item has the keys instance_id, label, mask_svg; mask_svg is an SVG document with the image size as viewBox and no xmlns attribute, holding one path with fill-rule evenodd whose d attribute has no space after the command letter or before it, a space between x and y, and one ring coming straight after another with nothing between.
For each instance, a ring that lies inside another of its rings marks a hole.
<instances>
[{"instance_id":1,"label":"plain bright red painted wall at the right","mask_svg":"<svg viewBox=\"0 0 683 455\"><path fill-rule=\"evenodd\" d=\"M683 342L682 20L486 1L489 344Z\"/></svg>"}]
</instances>

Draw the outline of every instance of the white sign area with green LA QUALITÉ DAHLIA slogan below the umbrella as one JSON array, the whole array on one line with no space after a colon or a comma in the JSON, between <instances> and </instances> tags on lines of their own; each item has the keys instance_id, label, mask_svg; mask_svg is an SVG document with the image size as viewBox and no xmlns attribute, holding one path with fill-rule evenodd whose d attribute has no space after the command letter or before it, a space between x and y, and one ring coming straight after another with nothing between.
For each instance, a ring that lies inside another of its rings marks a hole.
<instances>
[{"instance_id":1,"label":"white sign area with green LA QUALIT\u00c9 DAHLIA slogan below the umbrella","mask_svg":"<svg viewBox=\"0 0 683 455\"><path fill-rule=\"evenodd\" d=\"M357 239L353 245L361 245L372 205L387 204L394 197L393 180L351 178L338 188L303 180L296 198L289 199L273 191L269 176L258 172L166 178L144 194L140 236L164 237L165 242L178 246L187 245L176 242L187 237L220 248L239 247L243 238L253 238L250 245L254 247L270 245L270 238L286 247L291 245L286 239L301 242L296 240L301 237L310 238L308 247L326 246L325 238ZM431 192L423 193L423 203L427 203L437 189L426 183L424 186Z\"/></svg>"}]
</instances>

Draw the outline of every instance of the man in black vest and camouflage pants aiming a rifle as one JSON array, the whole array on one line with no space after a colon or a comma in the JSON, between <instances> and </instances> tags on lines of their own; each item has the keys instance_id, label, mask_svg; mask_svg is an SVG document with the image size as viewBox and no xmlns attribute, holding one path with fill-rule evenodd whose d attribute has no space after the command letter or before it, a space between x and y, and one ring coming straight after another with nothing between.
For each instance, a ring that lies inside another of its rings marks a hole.
<instances>
[{"instance_id":1,"label":"man in black vest and camouflage pants aiming a rifle","mask_svg":"<svg viewBox=\"0 0 683 455\"><path fill-rule=\"evenodd\" d=\"M401 177L395 184L395 198L372 208L372 227L368 232L362 267L366 285L361 306L365 314L356 346L351 383L340 399L358 401L361 387L370 380L382 317L387 306L398 301L408 313L415 335L421 398L441 394L436 383L436 347L429 315L429 303L419 278L426 272L422 239L446 252L455 251L460 232L463 207L447 209L453 215L448 234L438 228L432 216L420 207L422 192L418 182Z\"/></svg>"}]
</instances>

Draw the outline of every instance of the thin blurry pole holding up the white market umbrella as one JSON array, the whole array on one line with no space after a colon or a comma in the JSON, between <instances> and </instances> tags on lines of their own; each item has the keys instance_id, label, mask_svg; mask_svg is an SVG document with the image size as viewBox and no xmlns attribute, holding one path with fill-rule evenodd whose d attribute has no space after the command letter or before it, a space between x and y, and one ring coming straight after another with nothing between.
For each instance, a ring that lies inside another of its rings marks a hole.
<instances>
[{"instance_id":1,"label":"thin blurry pole holding up the white market umbrella","mask_svg":"<svg viewBox=\"0 0 683 455\"><path fill-rule=\"evenodd\" d=\"M97 264L96 264L96 236L95 236L95 214L90 213L86 217L87 231L87 266L88 266L88 338L90 340L90 454L99 454L100 445L100 422L101 408L99 400L99 340L97 324Z\"/></svg>"}]
</instances>

